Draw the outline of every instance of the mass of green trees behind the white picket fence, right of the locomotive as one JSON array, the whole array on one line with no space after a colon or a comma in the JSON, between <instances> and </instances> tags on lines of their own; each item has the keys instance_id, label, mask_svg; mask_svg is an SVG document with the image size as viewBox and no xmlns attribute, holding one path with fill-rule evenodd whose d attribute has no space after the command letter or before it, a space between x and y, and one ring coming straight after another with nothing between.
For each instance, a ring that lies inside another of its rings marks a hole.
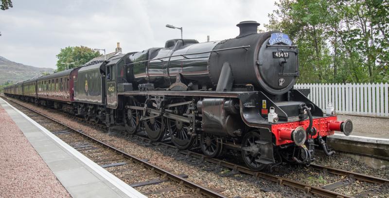
<instances>
[{"instance_id":1,"label":"mass of green trees behind the white picket fence, right of the locomotive","mask_svg":"<svg viewBox=\"0 0 389 198\"><path fill-rule=\"evenodd\" d=\"M389 2L280 0L268 30L299 46L300 83L388 82Z\"/></svg>"}]
</instances>

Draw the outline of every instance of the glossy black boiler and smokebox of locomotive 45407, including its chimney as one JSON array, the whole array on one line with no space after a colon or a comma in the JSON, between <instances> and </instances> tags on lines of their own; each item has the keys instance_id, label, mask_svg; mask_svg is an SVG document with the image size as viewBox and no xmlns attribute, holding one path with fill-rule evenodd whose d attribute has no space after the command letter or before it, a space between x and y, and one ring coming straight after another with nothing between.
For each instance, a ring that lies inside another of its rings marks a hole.
<instances>
[{"instance_id":1,"label":"glossy black boiler and smokebox of locomotive 45407, including its chimney","mask_svg":"<svg viewBox=\"0 0 389 198\"><path fill-rule=\"evenodd\" d=\"M286 34L257 33L258 25L255 21L239 23L240 34L233 39L206 43L172 39L164 48L132 54L129 61L134 76L130 81L135 88L147 82L177 91L238 91L251 84L255 90L283 94L299 76L297 48ZM283 39L283 45L270 45L270 39ZM187 87L190 82L193 87Z\"/></svg>"}]
</instances>

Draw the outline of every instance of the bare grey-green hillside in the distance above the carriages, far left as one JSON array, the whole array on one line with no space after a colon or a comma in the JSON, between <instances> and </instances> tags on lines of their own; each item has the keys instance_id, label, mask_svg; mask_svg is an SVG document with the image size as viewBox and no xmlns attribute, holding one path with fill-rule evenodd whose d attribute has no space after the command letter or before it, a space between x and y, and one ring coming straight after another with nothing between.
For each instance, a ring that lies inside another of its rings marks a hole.
<instances>
[{"instance_id":1,"label":"bare grey-green hillside in the distance above the carriages, far left","mask_svg":"<svg viewBox=\"0 0 389 198\"><path fill-rule=\"evenodd\" d=\"M37 78L44 72L53 73L54 69L26 66L0 56L0 85L7 81L16 83Z\"/></svg>"}]
</instances>

